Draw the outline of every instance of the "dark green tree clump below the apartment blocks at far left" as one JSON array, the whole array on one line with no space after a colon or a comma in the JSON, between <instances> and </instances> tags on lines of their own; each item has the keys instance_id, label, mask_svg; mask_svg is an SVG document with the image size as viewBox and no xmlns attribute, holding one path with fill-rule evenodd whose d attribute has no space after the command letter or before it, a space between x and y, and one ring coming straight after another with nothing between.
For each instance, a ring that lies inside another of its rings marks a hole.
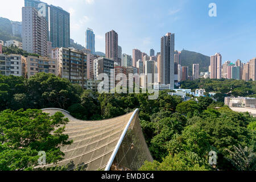
<instances>
[{"instance_id":1,"label":"dark green tree clump below the apartment blocks at far left","mask_svg":"<svg viewBox=\"0 0 256 182\"><path fill-rule=\"evenodd\" d=\"M79 101L77 90L67 79L38 73L29 79L0 75L0 109L68 109Z\"/></svg>"}]
</instances>

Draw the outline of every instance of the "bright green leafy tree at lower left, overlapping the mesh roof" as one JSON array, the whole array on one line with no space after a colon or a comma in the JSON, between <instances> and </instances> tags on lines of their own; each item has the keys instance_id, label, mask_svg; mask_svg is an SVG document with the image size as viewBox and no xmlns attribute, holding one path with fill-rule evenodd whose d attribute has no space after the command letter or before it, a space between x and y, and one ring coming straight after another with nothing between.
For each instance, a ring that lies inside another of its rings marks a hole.
<instances>
[{"instance_id":1,"label":"bright green leafy tree at lower left, overlapping the mesh roof","mask_svg":"<svg viewBox=\"0 0 256 182\"><path fill-rule=\"evenodd\" d=\"M0 113L0 170L31 170L38 164L38 152L46 152L46 162L63 159L61 145L71 144L62 134L68 122L62 113L51 117L42 110L5 110ZM55 129L57 128L57 129Z\"/></svg>"}]
</instances>

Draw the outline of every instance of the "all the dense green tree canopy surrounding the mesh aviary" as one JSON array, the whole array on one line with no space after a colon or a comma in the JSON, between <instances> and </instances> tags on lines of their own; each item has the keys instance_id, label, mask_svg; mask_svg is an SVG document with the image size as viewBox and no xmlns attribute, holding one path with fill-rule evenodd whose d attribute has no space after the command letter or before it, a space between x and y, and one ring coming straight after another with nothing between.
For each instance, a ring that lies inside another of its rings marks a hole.
<instances>
[{"instance_id":1,"label":"all the dense green tree canopy surrounding the mesh aviary","mask_svg":"<svg viewBox=\"0 0 256 182\"><path fill-rule=\"evenodd\" d=\"M194 82L183 82L183 84L195 83L201 84L196 85L195 88L204 88L205 84L207 92L229 88L230 84L234 90L240 89L241 86L247 87L248 94L253 93L252 90L255 88L255 82L252 81L246 83L236 80L200 79ZM168 92L170 90L161 91L158 99L148 100L148 93L99 94L83 90L81 86L73 85L64 78L46 73L38 73L29 79L0 75L0 109L2 110L0 133L3 131L8 133L0 138L4 143L0 148L0 156L4 156L0 162L5 164L4 169L30 169L30 166L38 159L39 148L33 147L40 142L36 139L34 142L32 142L33 139L27 141L26 138L38 137L34 131L41 132L45 126L41 126L40 122L31 123L30 121L42 119L47 121L46 125L48 125L47 123L56 119L30 109L59 107L68 110L78 119L98 120L117 117L138 108L143 134L151 155L155 159L153 163L145 163L141 169L237 170L238 167L247 169L241 167L243 160L239 160L238 166L235 165L238 162L233 154L237 153L236 147L241 146L246 151L250 148L252 155L249 156L255 158L256 118L251 117L249 113L234 112L228 106L224 106L223 102L215 102L209 97L195 97L183 102L181 97L171 96ZM229 90L221 92L226 93ZM219 94L220 98L224 96L222 93ZM19 110L22 108L26 111ZM38 117L33 113L38 114ZM5 123L6 118L13 118L11 121L16 121L16 123L13 122L9 126L8 122ZM61 115L57 118L59 118L58 121L63 121ZM25 126L24 123L31 123L31 125ZM19 127L24 125L24 127L19 129L16 125ZM51 139L48 134L51 127L46 127L44 136L41 137L42 142L47 142L45 137ZM9 136L10 138L7 138ZM17 136L19 139L16 138ZM53 139L49 141L52 142L50 148L53 148L52 157L49 158L51 162L61 158L61 153L57 151L58 142L61 143L67 139L62 134L58 134L57 137L53 136ZM25 139L25 142L21 142L20 139ZM7 144L7 141L11 143ZM19 148L22 144L25 146ZM40 145L42 145L40 150L50 150L43 148L47 147L43 143ZM214 168L208 163L210 151L216 151L218 156L217 165ZM19 158L18 156L30 157ZM11 158L17 158L13 160L15 163L12 163L13 167L7 165L11 162ZM248 161L250 161L250 167L254 165L254 160ZM21 163L22 167L19 166ZM58 169L65 169L65 167Z\"/></svg>"}]
</instances>

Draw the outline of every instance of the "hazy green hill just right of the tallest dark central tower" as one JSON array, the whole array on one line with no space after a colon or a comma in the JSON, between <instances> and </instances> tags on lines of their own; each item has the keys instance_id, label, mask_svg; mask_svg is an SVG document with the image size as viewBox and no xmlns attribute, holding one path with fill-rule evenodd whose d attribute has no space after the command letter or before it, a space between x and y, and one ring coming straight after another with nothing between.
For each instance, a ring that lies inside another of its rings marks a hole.
<instances>
[{"instance_id":1,"label":"hazy green hill just right of the tallest dark central tower","mask_svg":"<svg viewBox=\"0 0 256 182\"><path fill-rule=\"evenodd\" d=\"M192 75L192 65L199 64L199 73L208 72L210 57L192 51L181 51L181 66L188 67L188 75Z\"/></svg>"}]
</instances>

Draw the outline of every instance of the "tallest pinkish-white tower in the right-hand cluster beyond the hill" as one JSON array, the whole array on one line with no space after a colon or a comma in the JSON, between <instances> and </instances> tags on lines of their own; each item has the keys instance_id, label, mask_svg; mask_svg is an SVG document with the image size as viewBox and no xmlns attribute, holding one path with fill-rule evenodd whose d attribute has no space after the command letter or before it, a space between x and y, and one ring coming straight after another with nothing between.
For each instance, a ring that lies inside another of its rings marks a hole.
<instances>
[{"instance_id":1,"label":"tallest pinkish-white tower in the right-hand cluster beyond the hill","mask_svg":"<svg viewBox=\"0 0 256 182\"><path fill-rule=\"evenodd\" d=\"M222 57L220 53L210 56L210 78L221 79Z\"/></svg>"}]
</instances>

